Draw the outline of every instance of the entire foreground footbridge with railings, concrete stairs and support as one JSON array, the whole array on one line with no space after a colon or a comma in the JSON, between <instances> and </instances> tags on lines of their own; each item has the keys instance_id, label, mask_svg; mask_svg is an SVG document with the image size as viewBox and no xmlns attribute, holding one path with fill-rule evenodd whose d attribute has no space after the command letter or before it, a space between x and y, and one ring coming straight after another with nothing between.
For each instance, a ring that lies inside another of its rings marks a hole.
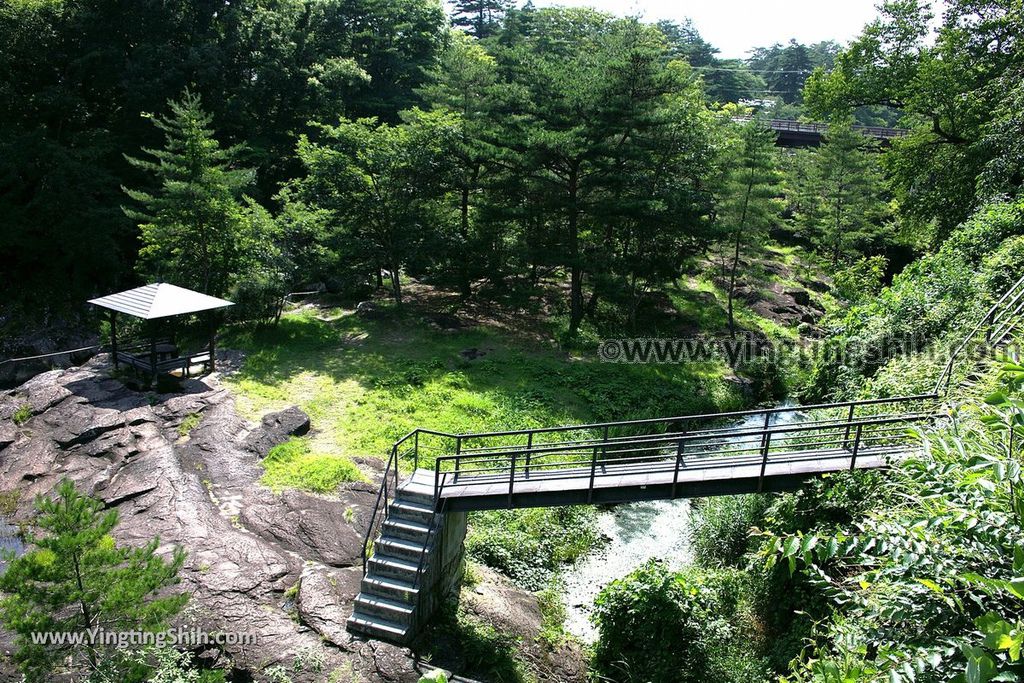
<instances>
[{"instance_id":1,"label":"entire foreground footbridge with railings, concrete stairs and support","mask_svg":"<svg viewBox=\"0 0 1024 683\"><path fill-rule=\"evenodd\" d=\"M938 417L937 398L485 433L417 429L391 449L348 627L408 642L457 585L466 512L787 490L914 452L914 430Z\"/></svg>"}]
</instances>

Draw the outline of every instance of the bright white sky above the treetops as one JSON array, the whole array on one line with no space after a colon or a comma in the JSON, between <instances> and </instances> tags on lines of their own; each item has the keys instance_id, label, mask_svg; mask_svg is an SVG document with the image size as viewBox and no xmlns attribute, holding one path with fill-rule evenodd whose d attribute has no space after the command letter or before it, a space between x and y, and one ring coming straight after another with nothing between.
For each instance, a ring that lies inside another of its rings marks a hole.
<instances>
[{"instance_id":1,"label":"bright white sky above the treetops","mask_svg":"<svg viewBox=\"0 0 1024 683\"><path fill-rule=\"evenodd\" d=\"M876 17L879 0L534 0L536 6L588 6L648 22L686 17L723 58L755 47L835 40L845 45Z\"/></svg>"}]
</instances>

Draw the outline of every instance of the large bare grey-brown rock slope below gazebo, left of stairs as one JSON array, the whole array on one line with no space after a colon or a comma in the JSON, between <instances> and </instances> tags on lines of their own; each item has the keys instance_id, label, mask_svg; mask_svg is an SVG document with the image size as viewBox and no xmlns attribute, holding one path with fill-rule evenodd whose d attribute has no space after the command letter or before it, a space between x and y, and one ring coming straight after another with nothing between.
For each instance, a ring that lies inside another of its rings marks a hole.
<instances>
[{"instance_id":1,"label":"large bare grey-brown rock slope below gazebo, left of stairs","mask_svg":"<svg viewBox=\"0 0 1024 683\"><path fill-rule=\"evenodd\" d=\"M120 543L159 536L165 552L183 547L182 586L193 596L183 625L256 637L255 645L201 654L239 680L283 667L295 683L333 672L337 680L416 681L429 667L414 651L344 628L376 483L330 496L276 495L259 483L266 452L307 429L297 409L247 422L216 377L186 381L174 394L133 391L97 356L0 395L0 496L10 520L28 524L35 497L69 477L119 511ZM379 477L378 459L357 462L368 479ZM518 625L529 645L540 629L536 598L517 598L535 605ZM9 634L3 640L9 649Z\"/></svg>"}]
</instances>

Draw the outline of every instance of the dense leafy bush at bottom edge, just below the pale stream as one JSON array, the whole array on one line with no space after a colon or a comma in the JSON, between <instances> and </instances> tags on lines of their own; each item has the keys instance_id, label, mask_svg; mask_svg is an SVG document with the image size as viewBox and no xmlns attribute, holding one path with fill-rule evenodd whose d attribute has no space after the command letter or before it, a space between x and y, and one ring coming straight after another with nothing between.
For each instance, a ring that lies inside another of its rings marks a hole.
<instances>
[{"instance_id":1,"label":"dense leafy bush at bottom edge, just below the pale stream","mask_svg":"<svg viewBox=\"0 0 1024 683\"><path fill-rule=\"evenodd\" d=\"M593 615L598 674L621 683L735 680L740 584L736 571L674 573L657 560L611 582Z\"/></svg>"}]
</instances>

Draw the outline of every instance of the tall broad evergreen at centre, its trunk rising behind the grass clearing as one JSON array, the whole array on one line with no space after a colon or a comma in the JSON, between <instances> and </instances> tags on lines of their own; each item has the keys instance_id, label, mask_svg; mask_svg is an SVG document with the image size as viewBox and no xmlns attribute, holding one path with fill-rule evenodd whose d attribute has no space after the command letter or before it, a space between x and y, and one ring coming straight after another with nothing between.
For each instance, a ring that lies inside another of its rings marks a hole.
<instances>
[{"instance_id":1,"label":"tall broad evergreen at centre, its trunk rising behind the grass clearing","mask_svg":"<svg viewBox=\"0 0 1024 683\"><path fill-rule=\"evenodd\" d=\"M531 18L531 34L499 52L500 68L512 74L517 87L505 103L514 115L505 120L498 145L510 175L525 179L521 204L528 204L539 221L531 228L546 233L541 242L556 249L547 258L568 271L572 336L593 307L585 301L586 278L596 281L614 271L613 233L644 210L673 206L641 190L651 188L645 183L652 178L668 177L657 172L664 158L648 145L669 139L684 121L697 133L687 137L686 146L695 168L705 123L699 108L673 109L675 98L699 99L699 89L688 68L668 63L663 36L653 27L587 9L542 9ZM677 146L671 148L674 163L683 159L676 156ZM693 168L678 176L673 189L672 183L654 187L679 190ZM684 223L690 217L680 213ZM662 218L651 225L678 229ZM592 290L592 302L596 293Z\"/></svg>"}]
</instances>

